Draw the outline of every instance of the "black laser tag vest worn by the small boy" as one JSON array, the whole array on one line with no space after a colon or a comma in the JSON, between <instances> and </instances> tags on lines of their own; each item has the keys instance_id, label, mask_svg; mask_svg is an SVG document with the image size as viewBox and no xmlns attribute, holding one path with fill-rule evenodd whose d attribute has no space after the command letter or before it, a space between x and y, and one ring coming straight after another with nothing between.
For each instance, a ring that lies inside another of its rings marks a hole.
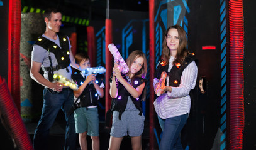
<instances>
[{"instance_id":1,"label":"black laser tag vest worn by the small boy","mask_svg":"<svg viewBox=\"0 0 256 150\"><path fill-rule=\"evenodd\" d=\"M86 80L82 74L72 74L72 79L75 83L80 87L82 83ZM96 80L99 82L97 84L101 85L104 80L104 75L97 74ZM97 106L97 100L99 96L97 95L97 91L94 88L93 84L87 84L84 91L82 91L81 95L78 97L80 98L80 107L88 107L88 106Z\"/></svg>"}]
</instances>

